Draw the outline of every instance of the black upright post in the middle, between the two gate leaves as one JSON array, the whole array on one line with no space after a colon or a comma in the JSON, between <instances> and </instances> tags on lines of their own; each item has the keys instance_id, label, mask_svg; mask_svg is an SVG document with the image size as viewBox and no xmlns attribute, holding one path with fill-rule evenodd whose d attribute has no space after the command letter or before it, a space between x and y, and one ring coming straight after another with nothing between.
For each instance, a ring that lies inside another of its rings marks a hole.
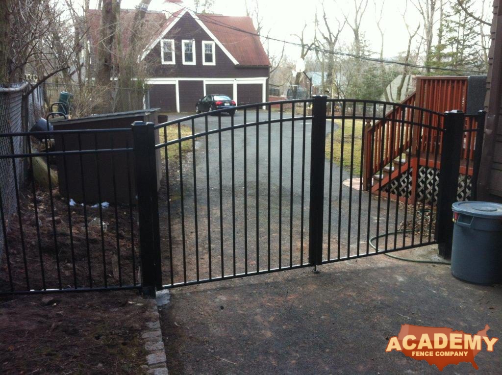
<instances>
[{"instance_id":1,"label":"black upright post in the middle, between the two gate leaves","mask_svg":"<svg viewBox=\"0 0 502 375\"><path fill-rule=\"evenodd\" d=\"M324 221L324 149L326 146L325 95L312 96L312 127L310 142L310 209L309 265L322 263L322 232Z\"/></svg>"}]
</instances>

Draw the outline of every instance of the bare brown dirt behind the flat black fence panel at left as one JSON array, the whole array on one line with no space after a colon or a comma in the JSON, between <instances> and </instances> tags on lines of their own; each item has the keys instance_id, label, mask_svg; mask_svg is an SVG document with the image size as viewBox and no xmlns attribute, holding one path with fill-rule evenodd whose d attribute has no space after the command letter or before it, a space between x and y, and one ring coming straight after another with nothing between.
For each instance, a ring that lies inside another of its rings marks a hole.
<instances>
[{"instance_id":1,"label":"bare brown dirt behind the flat black fence panel at left","mask_svg":"<svg viewBox=\"0 0 502 375\"><path fill-rule=\"evenodd\" d=\"M21 220L15 213L6 225L8 247L0 261L0 291L10 291L11 286L14 290L42 290L44 282L47 289L139 282L136 210L132 220L129 205L101 210L87 205L84 212L80 204L69 206L55 188L52 213L47 189L37 188L35 200L29 187L20 190L19 196Z\"/></svg>"}]
</instances>

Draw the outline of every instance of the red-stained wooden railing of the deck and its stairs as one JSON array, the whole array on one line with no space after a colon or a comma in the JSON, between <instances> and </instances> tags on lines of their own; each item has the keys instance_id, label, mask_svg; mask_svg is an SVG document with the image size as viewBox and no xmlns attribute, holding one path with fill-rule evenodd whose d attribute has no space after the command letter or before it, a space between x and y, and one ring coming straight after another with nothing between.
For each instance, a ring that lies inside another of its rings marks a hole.
<instances>
[{"instance_id":1,"label":"red-stained wooden railing of the deck and its stairs","mask_svg":"<svg viewBox=\"0 0 502 375\"><path fill-rule=\"evenodd\" d=\"M416 91L405 98L401 104L426 108L439 113L453 109L460 109L465 112L466 98L467 77L423 76L417 77ZM374 125L371 123L366 124L363 151L363 186L365 188L370 188L372 176L378 174L386 166L392 165L394 159L403 155L409 149L410 143L412 143L411 155L408 155L408 158L420 155L422 160L426 158L426 155L435 158L436 155L441 154L443 134L441 131L422 128L422 131L419 132L418 127L415 127L412 132L410 124L402 124L403 120L405 122L413 120L413 122L435 127L439 126L439 128L443 127L442 116L426 112L421 113L423 113L422 118L418 118L418 111L396 105L386 113L385 121L377 121ZM476 118L466 116L464 144L461 154L461 163L463 165L467 164L468 166L469 162L474 158L476 129ZM404 133L401 134L402 132ZM413 134L413 139L411 139L411 134ZM425 162L428 163L428 161ZM472 168L467 167L465 171L470 175ZM380 185L383 185L382 182L380 182Z\"/></svg>"}]
</instances>

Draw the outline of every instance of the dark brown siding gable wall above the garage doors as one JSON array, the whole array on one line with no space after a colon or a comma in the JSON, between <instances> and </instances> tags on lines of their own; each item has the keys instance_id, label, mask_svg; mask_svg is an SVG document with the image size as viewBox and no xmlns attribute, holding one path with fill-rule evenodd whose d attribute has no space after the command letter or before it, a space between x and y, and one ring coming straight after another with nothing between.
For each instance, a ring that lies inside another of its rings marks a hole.
<instances>
[{"instance_id":1,"label":"dark brown siding gable wall above the garage doors","mask_svg":"<svg viewBox=\"0 0 502 375\"><path fill-rule=\"evenodd\" d=\"M202 65L202 41L211 41L209 35L190 16L185 15L167 33L164 39L174 39L176 64L161 63L160 42L146 56L152 66L152 77L182 77L182 78L247 78L268 77L268 67L239 67L225 55L215 44L216 65ZM195 65L183 65L182 40L195 40ZM238 41L236 41L238 43Z\"/></svg>"}]
</instances>

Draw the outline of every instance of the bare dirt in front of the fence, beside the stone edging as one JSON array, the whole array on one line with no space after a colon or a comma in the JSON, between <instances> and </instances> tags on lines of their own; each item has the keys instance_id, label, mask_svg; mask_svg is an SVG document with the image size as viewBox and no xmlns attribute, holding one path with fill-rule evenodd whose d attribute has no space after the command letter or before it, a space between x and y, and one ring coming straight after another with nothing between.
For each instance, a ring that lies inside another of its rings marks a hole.
<instances>
[{"instance_id":1,"label":"bare dirt in front of the fence, beside the stone edging","mask_svg":"<svg viewBox=\"0 0 502 375\"><path fill-rule=\"evenodd\" d=\"M144 373L146 311L135 291L0 299L1 372Z\"/></svg>"}]
</instances>

